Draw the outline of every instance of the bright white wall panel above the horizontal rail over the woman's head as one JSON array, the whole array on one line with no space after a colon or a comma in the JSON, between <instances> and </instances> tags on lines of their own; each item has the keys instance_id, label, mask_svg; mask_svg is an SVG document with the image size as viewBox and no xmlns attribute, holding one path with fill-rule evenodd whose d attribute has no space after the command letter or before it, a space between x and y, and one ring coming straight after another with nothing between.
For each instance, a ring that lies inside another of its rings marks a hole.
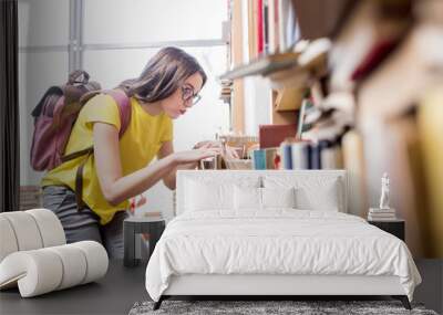
<instances>
[{"instance_id":1,"label":"bright white wall panel above the horizontal rail over the woman's head","mask_svg":"<svg viewBox=\"0 0 443 315\"><path fill-rule=\"evenodd\" d=\"M220 39L226 0L85 0L85 43Z\"/></svg>"}]
</instances>

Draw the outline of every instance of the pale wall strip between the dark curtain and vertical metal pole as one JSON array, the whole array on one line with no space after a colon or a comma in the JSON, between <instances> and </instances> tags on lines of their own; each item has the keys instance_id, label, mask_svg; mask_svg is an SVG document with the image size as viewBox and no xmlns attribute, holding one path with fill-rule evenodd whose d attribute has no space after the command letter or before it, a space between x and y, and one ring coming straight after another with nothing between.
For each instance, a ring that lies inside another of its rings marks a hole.
<instances>
[{"instance_id":1,"label":"pale wall strip between the dark curtain and vertical metal pole","mask_svg":"<svg viewBox=\"0 0 443 315\"><path fill-rule=\"evenodd\" d=\"M68 0L19 0L18 4L20 48L68 44ZM33 132L31 112L49 86L60 84L66 81L66 77L68 49L65 51L43 50L19 53L21 185L37 185L42 176L41 172L35 172L30 167L29 156Z\"/></svg>"}]
</instances>

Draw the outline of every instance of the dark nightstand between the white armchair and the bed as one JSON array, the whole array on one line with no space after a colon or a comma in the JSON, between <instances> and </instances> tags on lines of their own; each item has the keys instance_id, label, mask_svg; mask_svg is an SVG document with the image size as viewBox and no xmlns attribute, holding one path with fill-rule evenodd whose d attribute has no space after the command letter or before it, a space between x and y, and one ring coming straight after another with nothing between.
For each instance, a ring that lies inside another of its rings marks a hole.
<instances>
[{"instance_id":1,"label":"dark nightstand between the white armchair and the bed","mask_svg":"<svg viewBox=\"0 0 443 315\"><path fill-rule=\"evenodd\" d=\"M165 230L165 220L161 217L153 218L138 218L131 217L123 221L123 237L124 237L124 259L125 266L136 266L138 260L135 259L135 238L140 233L150 234L150 258L154 248Z\"/></svg>"}]
</instances>

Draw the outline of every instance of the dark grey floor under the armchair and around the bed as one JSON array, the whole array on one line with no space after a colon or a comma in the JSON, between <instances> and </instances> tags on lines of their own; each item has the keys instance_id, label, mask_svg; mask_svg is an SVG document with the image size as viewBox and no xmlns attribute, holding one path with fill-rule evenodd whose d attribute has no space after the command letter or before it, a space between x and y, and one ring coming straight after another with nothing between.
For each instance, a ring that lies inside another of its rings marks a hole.
<instances>
[{"instance_id":1,"label":"dark grey floor under the armchair and around the bed","mask_svg":"<svg viewBox=\"0 0 443 315\"><path fill-rule=\"evenodd\" d=\"M414 302L443 314L443 260L419 260L416 265L423 283ZM135 302L148 300L145 269L146 263L127 269L122 261L111 261L106 276L96 283L31 298L21 298L17 288L2 291L0 314L127 314Z\"/></svg>"}]
</instances>

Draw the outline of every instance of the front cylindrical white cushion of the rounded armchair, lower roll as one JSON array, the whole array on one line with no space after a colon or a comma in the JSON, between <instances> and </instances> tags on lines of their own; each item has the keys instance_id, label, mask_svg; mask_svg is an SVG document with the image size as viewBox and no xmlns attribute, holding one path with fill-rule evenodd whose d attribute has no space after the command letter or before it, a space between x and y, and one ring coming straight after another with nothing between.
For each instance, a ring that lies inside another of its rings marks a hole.
<instances>
[{"instance_id":1,"label":"front cylindrical white cushion of the rounded armchair, lower roll","mask_svg":"<svg viewBox=\"0 0 443 315\"><path fill-rule=\"evenodd\" d=\"M31 297L95 281L107 264L106 251L94 241L16 252L0 263L0 287L17 283L21 296Z\"/></svg>"}]
</instances>

